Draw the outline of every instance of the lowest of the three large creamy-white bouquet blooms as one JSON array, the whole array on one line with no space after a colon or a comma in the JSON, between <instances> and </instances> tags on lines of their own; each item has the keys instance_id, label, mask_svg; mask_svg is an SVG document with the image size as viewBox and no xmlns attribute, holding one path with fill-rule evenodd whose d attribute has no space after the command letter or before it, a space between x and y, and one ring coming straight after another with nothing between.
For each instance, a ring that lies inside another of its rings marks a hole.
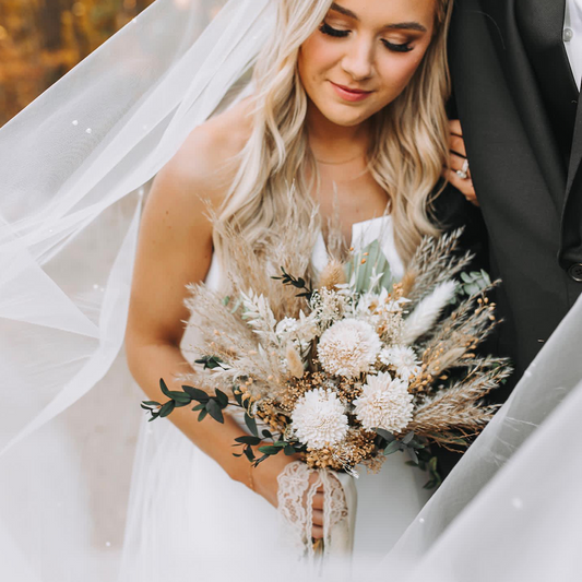
<instances>
[{"instance_id":1,"label":"lowest of the three large creamy-white bouquet blooms","mask_svg":"<svg viewBox=\"0 0 582 582\"><path fill-rule=\"evenodd\" d=\"M323 449L342 441L347 433L347 416L337 394L317 388L306 392L292 414L293 431L300 442Z\"/></svg>"}]
</instances>

